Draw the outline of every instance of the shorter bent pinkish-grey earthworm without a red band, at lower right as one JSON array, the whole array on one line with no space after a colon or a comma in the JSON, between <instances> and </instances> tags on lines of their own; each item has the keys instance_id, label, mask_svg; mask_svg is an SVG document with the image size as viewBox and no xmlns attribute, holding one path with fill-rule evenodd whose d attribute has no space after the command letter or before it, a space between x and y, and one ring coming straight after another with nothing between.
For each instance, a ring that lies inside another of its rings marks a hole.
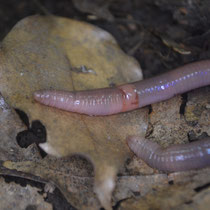
<instances>
[{"instance_id":1,"label":"shorter bent pinkish-grey earthworm without a red band, at lower right","mask_svg":"<svg viewBox=\"0 0 210 210\"><path fill-rule=\"evenodd\" d=\"M137 136L127 137L137 157L163 172L187 171L210 166L210 137L188 144L161 148L157 143Z\"/></svg>"}]
</instances>

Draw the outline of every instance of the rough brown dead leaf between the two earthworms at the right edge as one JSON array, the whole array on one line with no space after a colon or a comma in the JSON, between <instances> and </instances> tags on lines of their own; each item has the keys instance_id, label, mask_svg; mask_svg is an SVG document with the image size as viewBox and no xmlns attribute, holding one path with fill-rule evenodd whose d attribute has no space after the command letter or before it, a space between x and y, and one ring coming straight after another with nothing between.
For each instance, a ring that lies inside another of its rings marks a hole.
<instances>
[{"instance_id":1,"label":"rough brown dead leaf between the two earthworms at the right edge","mask_svg":"<svg viewBox=\"0 0 210 210\"><path fill-rule=\"evenodd\" d=\"M187 99L176 96L170 100L152 105L150 138L165 147L170 144L187 143L194 133L195 139L204 133L210 135L209 87L193 90ZM183 110L180 110L183 109Z\"/></svg>"}]
</instances>

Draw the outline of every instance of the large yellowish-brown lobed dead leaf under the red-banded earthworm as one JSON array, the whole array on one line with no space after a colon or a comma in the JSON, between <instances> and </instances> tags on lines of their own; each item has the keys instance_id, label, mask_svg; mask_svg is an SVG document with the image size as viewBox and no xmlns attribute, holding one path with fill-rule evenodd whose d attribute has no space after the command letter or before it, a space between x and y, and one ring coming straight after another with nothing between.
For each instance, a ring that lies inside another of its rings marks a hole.
<instances>
[{"instance_id":1,"label":"large yellowish-brown lobed dead leaf under the red-banded earthworm","mask_svg":"<svg viewBox=\"0 0 210 210\"><path fill-rule=\"evenodd\" d=\"M0 57L0 90L6 101L23 110L31 122L40 120L45 125L47 143L43 148L48 153L81 154L91 160L95 192L102 205L110 208L116 173L130 155L125 137L146 132L147 109L89 117L42 106L32 94L39 89L82 90L140 80L137 62L125 55L107 32L53 16L32 16L20 21L4 39ZM82 65L96 74L71 71ZM45 175L40 170L39 176ZM54 181L59 185L57 179ZM59 187L63 192L71 191L66 186ZM69 201L75 203L71 198Z\"/></svg>"}]
</instances>

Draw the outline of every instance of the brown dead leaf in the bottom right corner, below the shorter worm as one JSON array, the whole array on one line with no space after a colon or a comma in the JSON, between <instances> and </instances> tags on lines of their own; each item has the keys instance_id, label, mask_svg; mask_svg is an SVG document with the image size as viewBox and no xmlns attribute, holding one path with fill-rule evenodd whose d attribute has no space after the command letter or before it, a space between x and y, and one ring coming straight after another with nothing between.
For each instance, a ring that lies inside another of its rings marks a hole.
<instances>
[{"instance_id":1,"label":"brown dead leaf in the bottom right corner, below the shorter worm","mask_svg":"<svg viewBox=\"0 0 210 210\"><path fill-rule=\"evenodd\" d=\"M138 199L130 198L122 202L119 209L207 210L209 209L210 204L210 190L208 188L208 183L210 181L209 173L209 169L200 170L199 173L197 171L173 173L172 175L169 175L168 178L165 177L166 182L173 180L172 184L167 185L166 183L160 182L156 186L153 185L153 188L149 192L145 195L143 194L144 196L141 196ZM150 180L153 180L155 175L152 175L150 178ZM200 187L201 184L203 187ZM140 185L138 187L141 192Z\"/></svg>"}]
</instances>

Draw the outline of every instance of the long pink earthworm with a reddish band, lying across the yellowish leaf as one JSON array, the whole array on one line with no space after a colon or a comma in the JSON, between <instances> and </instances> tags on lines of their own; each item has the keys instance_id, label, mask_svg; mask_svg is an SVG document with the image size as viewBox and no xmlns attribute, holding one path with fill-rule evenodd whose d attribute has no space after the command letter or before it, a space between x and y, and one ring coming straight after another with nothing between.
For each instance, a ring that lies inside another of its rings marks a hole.
<instances>
[{"instance_id":1,"label":"long pink earthworm with a reddish band, lying across the yellowish leaf","mask_svg":"<svg viewBox=\"0 0 210 210\"><path fill-rule=\"evenodd\" d=\"M111 115L137 109L210 84L210 60L184 65L142 81L86 91L41 90L36 101L87 115Z\"/></svg>"}]
</instances>

